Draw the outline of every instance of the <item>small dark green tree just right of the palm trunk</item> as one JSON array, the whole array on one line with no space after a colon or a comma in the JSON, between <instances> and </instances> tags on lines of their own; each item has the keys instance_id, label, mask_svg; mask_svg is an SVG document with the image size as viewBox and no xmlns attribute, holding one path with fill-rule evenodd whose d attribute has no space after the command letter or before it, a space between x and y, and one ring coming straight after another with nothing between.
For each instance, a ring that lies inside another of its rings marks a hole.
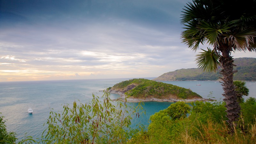
<instances>
[{"instance_id":1,"label":"small dark green tree just right of the palm trunk","mask_svg":"<svg viewBox=\"0 0 256 144\"><path fill-rule=\"evenodd\" d=\"M243 96L249 95L249 89L246 87L245 82L234 81L236 98L239 103L244 102Z\"/></svg>"}]
</instances>

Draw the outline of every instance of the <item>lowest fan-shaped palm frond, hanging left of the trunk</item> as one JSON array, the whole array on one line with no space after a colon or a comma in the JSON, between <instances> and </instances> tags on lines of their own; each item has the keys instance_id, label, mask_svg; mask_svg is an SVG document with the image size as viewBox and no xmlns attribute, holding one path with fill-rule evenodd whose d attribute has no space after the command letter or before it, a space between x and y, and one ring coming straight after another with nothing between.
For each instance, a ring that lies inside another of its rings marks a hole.
<instances>
[{"instance_id":1,"label":"lowest fan-shaped palm frond, hanging left of the trunk","mask_svg":"<svg viewBox=\"0 0 256 144\"><path fill-rule=\"evenodd\" d=\"M219 55L208 47L207 51L203 51L204 52L199 52L199 54L196 55L197 66L202 68L204 71L216 72L218 70L218 66L220 66Z\"/></svg>"}]
</instances>

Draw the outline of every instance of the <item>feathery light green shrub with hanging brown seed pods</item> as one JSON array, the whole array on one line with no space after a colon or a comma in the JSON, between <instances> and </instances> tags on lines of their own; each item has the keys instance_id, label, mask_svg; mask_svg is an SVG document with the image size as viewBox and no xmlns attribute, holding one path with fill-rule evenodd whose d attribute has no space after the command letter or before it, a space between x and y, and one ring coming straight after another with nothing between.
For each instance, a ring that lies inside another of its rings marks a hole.
<instances>
[{"instance_id":1,"label":"feathery light green shrub with hanging brown seed pods","mask_svg":"<svg viewBox=\"0 0 256 144\"><path fill-rule=\"evenodd\" d=\"M140 117L138 110L127 103L118 101L117 105L104 92L99 97L93 95L92 103L79 105L76 101L73 107L64 105L62 113L50 112L45 130L44 143L124 143L136 130L130 127L133 116Z\"/></svg>"}]
</instances>

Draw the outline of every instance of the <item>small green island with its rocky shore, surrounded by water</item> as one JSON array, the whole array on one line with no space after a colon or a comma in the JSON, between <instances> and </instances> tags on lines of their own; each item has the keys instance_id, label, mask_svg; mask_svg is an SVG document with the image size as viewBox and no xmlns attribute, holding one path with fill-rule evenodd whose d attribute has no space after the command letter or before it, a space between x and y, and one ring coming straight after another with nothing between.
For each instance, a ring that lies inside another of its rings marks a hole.
<instances>
[{"instance_id":1,"label":"small green island with its rocky shore, surrounded by water","mask_svg":"<svg viewBox=\"0 0 256 144\"><path fill-rule=\"evenodd\" d=\"M125 101L126 98L127 102L192 102L209 100L202 98L190 89L143 78L120 82L113 87L109 87L108 91L120 95L120 98L115 100Z\"/></svg>"}]
</instances>

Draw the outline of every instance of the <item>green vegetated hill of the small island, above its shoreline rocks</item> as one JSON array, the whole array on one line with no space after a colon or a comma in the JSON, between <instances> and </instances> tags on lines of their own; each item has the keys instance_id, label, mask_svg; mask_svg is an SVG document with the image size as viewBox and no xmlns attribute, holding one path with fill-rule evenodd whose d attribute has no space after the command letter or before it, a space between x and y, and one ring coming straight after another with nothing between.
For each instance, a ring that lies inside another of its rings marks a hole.
<instances>
[{"instance_id":1,"label":"green vegetated hill of the small island, above its shoreline rocks","mask_svg":"<svg viewBox=\"0 0 256 144\"><path fill-rule=\"evenodd\" d=\"M156 98L174 97L182 99L202 98L190 89L141 78L115 84L110 88L110 92L111 91L118 91L124 93L128 97L132 96L134 98L146 98L149 96Z\"/></svg>"}]
</instances>

